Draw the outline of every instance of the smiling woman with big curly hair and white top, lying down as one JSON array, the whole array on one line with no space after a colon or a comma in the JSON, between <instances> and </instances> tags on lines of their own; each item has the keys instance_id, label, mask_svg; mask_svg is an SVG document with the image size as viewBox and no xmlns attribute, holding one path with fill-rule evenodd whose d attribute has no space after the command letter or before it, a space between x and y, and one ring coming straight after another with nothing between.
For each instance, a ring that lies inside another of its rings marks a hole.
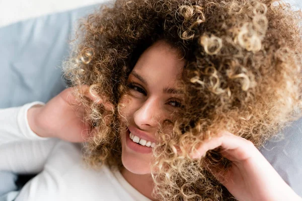
<instances>
[{"instance_id":1,"label":"smiling woman with big curly hair and white top, lying down","mask_svg":"<svg viewBox=\"0 0 302 201\"><path fill-rule=\"evenodd\" d=\"M43 171L17 200L300 200L255 147L299 117L298 22L272 1L118 1L90 15L64 68L73 87L2 111L19 118L12 140L46 139L30 142L26 167ZM87 141L100 168L66 141Z\"/></svg>"}]
</instances>

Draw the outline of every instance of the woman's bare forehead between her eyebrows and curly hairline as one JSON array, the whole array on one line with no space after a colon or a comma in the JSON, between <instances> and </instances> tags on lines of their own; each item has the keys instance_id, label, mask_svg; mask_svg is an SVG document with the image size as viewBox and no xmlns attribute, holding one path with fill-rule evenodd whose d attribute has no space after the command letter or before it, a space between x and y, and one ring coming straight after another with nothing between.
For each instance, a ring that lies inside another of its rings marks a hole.
<instances>
[{"instance_id":1,"label":"woman's bare forehead between her eyebrows and curly hairline","mask_svg":"<svg viewBox=\"0 0 302 201\"><path fill-rule=\"evenodd\" d=\"M139 57L133 71L156 84L176 84L180 80L185 60L166 42L158 41Z\"/></svg>"}]
</instances>

